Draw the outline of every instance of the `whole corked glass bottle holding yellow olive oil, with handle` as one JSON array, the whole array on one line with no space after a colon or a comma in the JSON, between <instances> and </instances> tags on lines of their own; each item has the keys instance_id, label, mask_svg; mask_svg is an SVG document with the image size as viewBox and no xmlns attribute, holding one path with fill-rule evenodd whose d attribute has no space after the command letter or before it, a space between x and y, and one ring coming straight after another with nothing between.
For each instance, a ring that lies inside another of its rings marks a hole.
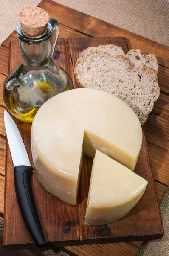
<instances>
[{"instance_id":1,"label":"whole corked glass bottle holding yellow olive oil, with handle","mask_svg":"<svg viewBox=\"0 0 169 256\"><path fill-rule=\"evenodd\" d=\"M40 23L42 20L35 15L41 15L37 12L38 7L32 8L34 28L32 25L31 29L29 27L29 8L24 9L17 25L23 62L9 74L3 86L3 99L8 110L17 119L29 123L33 122L38 109L48 99L73 89L70 76L52 60L59 36L57 20L48 19L48 14L44 11L43 20L46 17L46 27L44 26L43 30ZM22 26L23 16L24 22L27 20L27 26Z\"/></svg>"}]
</instances>

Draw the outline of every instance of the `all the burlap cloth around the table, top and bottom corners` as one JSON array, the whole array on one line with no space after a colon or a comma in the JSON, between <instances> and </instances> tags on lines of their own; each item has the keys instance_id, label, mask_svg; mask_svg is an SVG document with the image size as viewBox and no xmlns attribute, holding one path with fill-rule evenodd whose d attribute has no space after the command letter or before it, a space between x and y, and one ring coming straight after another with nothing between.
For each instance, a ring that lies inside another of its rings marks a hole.
<instances>
[{"instance_id":1,"label":"all the burlap cloth around the table, top and bottom corners","mask_svg":"<svg viewBox=\"0 0 169 256\"><path fill-rule=\"evenodd\" d=\"M54 0L70 8L97 17L138 35L169 46L168 0ZM19 12L37 6L40 0L0 0L0 44L16 29ZM56 10L57 17L57 10ZM165 236L144 243L139 256L169 255L169 190L161 203ZM57 249L4 251L3 218L0 218L0 256L66 256Z\"/></svg>"}]
</instances>

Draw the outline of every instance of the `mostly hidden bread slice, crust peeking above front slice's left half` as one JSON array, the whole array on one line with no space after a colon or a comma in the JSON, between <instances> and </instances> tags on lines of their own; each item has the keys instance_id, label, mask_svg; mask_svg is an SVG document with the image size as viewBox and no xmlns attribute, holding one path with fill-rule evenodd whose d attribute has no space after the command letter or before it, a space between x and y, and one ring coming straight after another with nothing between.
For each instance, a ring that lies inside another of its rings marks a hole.
<instances>
[{"instance_id":1,"label":"mostly hidden bread slice, crust peeking above front slice's left half","mask_svg":"<svg viewBox=\"0 0 169 256\"><path fill-rule=\"evenodd\" d=\"M99 45L98 47L88 47L77 56L77 61L79 61L81 58L83 58L85 55L87 55L90 52L94 52L96 50L101 50L103 52L108 52L111 55L125 55L124 51L121 47L114 45L114 44L105 44L105 45Z\"/></svg>"}]
</instances>

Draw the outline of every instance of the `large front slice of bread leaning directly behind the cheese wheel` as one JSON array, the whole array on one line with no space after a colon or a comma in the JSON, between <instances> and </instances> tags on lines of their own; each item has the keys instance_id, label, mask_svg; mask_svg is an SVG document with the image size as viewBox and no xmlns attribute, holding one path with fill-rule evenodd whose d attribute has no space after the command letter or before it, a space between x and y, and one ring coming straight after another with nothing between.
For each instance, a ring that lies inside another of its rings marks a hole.
<instances>
[{"instance_id":1,"label":"large front slice of bread leaning directly behind the cheese wheel","mask_svg":"<svg viewBox=\"0 0 169 256\"><path fill-rule=\"evenodd\" d=\"M75 75L80 87L105 90L124 100L135 111L141 125L160 93L155 70L144 64L131 70L124 56L100 50L80 59Z\"/></svg>"}]
</instances>

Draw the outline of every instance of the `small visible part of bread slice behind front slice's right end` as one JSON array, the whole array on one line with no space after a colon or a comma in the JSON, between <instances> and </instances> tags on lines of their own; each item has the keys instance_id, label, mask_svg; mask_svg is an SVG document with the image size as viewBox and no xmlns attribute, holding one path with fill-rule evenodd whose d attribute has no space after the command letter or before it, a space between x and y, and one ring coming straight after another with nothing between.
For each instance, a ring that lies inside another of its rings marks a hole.
<instances>
[{"instance_id":1,"label":"small visible part of bread slice behind front slice's right end","mask_svg":"<svg viewBox=\"0 0 169 256\"><path fill-rule=\"evenodd\" d=\"M146 67L152 67L156 73L158 73L158 61L154 54L149 53L149 55L142 54L138 50L130 50L127 52L127 60L130 62L130 68L140 67L142 64L145 64Z\"/></svg>"}]
</instances>

